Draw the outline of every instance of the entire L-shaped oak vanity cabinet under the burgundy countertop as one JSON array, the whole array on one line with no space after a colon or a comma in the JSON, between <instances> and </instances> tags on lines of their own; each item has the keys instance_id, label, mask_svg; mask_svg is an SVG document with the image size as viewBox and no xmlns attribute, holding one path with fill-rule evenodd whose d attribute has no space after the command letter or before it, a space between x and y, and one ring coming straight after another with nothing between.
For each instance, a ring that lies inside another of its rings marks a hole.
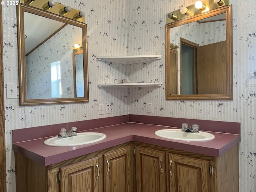
<instances>
[{"instance_id":1,"label":"entire L-shaped oak vanity cabinet under the burgundy countertop","mask_svg":"<svg viewBox=\"0 0 256 192\"><path fill-rule=\"evenodd\" d=\"M15 166L17 192L239 191L238 144L212 157L128 142L49 166L15 152Z\"/></svg>"}]
</instances>

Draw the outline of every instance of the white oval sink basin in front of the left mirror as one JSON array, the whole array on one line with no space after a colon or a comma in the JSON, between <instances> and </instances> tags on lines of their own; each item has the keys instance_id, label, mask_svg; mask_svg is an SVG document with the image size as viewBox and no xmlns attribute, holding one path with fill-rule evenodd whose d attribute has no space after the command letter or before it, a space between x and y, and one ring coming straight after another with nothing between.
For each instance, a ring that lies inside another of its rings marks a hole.
<instances>
[{"instance_id":1,"label":"white oval sink basin in front of the left mirror","mask_svg":"<svg viewBox=\"0 0 256 192\"><path fill-rule=\"evenodd\" d=\"M67 138L58 138L52 137L44 141L44 144L48 146L56 147L66 147L66 146L76 146L84 145L89 143L94 143L106 138L106 135L103 133L96 132L86 132L86 133L77 133L76 136L67 137Z\"/></svg>"}]
</instances>

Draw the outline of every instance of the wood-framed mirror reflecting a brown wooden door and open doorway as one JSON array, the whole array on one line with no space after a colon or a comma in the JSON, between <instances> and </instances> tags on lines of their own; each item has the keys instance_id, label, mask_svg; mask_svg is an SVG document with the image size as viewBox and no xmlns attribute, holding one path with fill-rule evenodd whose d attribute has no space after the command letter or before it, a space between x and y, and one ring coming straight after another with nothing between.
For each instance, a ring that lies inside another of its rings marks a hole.
<instances>
[{"instance_id":1,"label":"wood-framed mirror reflecting a brown wooden door and open doorway","mask_svg":"<svg viewBox=\"0 0 256 192\"><path fill-rule=\"evenodd\" d=\"M166 100L233 99L232 5L165 25Z\"/></svg>"}]
</instances>

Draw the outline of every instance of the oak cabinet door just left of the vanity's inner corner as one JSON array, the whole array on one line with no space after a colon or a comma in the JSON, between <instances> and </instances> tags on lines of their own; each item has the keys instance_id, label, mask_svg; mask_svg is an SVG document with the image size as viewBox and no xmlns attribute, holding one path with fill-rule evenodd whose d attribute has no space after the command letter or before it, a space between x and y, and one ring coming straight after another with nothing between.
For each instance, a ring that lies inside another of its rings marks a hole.
<instances>
[{"instance_id":1,"label":"oak cabinet door just left of the vanity's inner corner","mask_svg":"<svg viewBox=\"0 0 256 192\"><path fill-rule=\"evenodd\" d=\"M131 148L104 154L104 192L131 191Z\"/></svg>"}]
</instances>

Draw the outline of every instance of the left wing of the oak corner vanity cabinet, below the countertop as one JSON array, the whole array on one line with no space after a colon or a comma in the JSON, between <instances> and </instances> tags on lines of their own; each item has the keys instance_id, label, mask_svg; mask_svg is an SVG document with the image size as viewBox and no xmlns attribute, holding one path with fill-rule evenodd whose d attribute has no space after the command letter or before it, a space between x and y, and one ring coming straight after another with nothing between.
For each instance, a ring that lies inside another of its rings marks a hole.
<instances>
[{"instance_id":1,"label":"left wing of the oak corner vanity cabinet, below the countertop","mask_svg":"<svg viewBox=\"0 0 256 192\"><path fill-rule=\"evenodd\" d=\"M131 192L131 148L128 142L49 166L15 152L16 191Z\"/></svg>"}]
</instances>

